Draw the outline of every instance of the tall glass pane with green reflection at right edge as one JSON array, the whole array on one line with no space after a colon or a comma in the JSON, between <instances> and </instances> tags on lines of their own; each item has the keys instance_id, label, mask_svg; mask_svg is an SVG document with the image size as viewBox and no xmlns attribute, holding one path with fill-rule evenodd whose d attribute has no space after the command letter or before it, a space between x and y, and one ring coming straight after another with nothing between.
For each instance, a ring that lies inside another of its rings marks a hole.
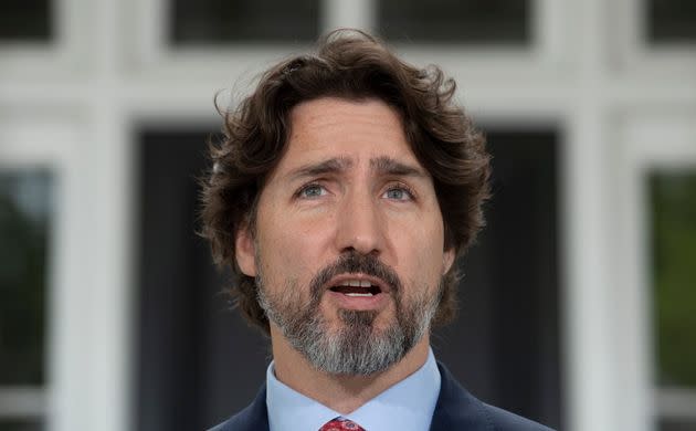
<instances>
[{"instance_id":1,"label":"tall glass pane with green reflection at right edge","mask_svg":"<svg viewBox=\"0 0 696 431\"><path fill-rule=\"evenodd\" d=\"M696 389L696 171L656 172L650 190L658 385Z\"/></svg>"}]
</instances>

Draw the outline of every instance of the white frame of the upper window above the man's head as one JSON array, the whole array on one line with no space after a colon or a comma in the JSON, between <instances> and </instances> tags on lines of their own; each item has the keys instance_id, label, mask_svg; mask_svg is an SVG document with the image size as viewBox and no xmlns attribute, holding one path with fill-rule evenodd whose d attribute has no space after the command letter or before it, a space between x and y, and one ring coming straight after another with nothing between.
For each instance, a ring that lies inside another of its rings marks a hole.
<instances>
[{"instance_id":1,"label":"white frame of the upper window above the man's head","mask_svg":"<svg viewBox=\"0 0 696 431\"><path fill-rule=\"evenodd\" d=\"M128 0L135 12L135 25L127 36L130 63L138 74L144 76L166 76L180 78L197 76L199 78L217 78L223 84L230 80L253 77L253 75L273 61L289 53L305 50L297 44L245 44L228 43L214 48L181 46L173 49L167 43L168 0ZM492 72L516 71L527 76L539 72L552 71L552 66L563 63L568 42L567 24L571 21L568 8L553 0L530 0L531 17L529 20L531 41L528 48L505 46L477 49L472 45L442 48L439 45L416 45L405 48L409 51L426 54L425 63L433 57L441 60L445 69L452 59L462 64L466 59L466 71L477 76L486 76ZM318 23L320 32L335 28L355 27L371 30L376 27L376 7L371 0L345 2L339 0L321 0L319 2ZM221 54L221 52L223 54ZM548 82L547 76L538 76L539 82Z\"/></svg>"}]
</instances>

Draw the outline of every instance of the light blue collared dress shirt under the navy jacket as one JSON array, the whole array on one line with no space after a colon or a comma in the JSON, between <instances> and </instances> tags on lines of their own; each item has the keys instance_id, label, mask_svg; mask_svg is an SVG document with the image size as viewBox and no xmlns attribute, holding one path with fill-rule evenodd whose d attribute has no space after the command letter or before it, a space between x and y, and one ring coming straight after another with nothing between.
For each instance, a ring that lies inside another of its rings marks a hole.
<instances>
[{"instance_id":1,"label":"light blue collared dress shirt under the navy jacket","mask_svg":"<svg viewBox=\"0 0 696 431\"><path fill-rule=\"evenodd\" d=\"M340 414L281 382L275 378L273 362L266 371L271 431L318 431L337 417L350 419L366 431L426 431L439 396L440 370L432 349L418 371L349 414Z\"/></svg>"}]
</instances>

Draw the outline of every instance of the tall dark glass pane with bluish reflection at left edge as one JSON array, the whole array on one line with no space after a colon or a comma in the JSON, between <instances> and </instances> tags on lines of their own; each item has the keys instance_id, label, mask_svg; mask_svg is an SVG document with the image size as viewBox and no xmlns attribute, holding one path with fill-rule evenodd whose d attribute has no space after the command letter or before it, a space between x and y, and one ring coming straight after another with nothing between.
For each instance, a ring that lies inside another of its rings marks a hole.
<instances>
[{"instance_id":1,"label":"tall dark glass pane with bluish reflection at left edge","mask_svg":"<svg viewBox=\"0 0 696 431\"><path fill-rule=\"evenodd\" d=\"M51 178L0 172L0 385L44 382Z\"/></svg>"}]
</instances>

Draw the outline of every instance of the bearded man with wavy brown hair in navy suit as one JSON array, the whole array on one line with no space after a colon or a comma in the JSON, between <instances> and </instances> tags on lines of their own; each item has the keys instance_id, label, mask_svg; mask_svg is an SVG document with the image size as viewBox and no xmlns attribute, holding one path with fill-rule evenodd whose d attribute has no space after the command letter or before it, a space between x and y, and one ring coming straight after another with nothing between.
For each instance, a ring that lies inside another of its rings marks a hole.
<instances>
[{"instance_id":1,"label":"bearded man with wavy brown hair in navy suit","mask_svg":"<svg viewBox=\"0 0 696 431\"><path fill-rule=\"evenodd\" d=\"M488 196L454 90L344 31L224 114L203 233L273 362L214 430L548 430L475 399L430 348Z\"/></svg>"}]
</instances>

